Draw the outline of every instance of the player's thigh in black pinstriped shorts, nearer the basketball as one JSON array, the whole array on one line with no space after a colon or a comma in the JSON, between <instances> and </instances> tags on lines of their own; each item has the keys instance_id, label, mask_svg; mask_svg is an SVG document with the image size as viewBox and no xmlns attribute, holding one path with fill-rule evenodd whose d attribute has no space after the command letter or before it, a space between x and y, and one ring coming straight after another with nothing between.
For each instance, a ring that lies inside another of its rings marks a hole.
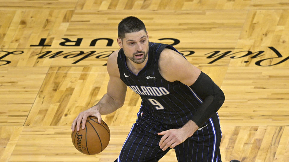
<instances>
[{"instance_id":1,"label":"player's thigh in black pinstriped shorts, nearer the basketball","mask_svg":"<svg viewBox=\"0 0 289 162\"><path fill-rule=\"evenodd\" d=\"M160 149L159 141L158 137L145 134L134 124L123 144L118 161L158 161L168 152Z\"/></svg>"}]
</instances>

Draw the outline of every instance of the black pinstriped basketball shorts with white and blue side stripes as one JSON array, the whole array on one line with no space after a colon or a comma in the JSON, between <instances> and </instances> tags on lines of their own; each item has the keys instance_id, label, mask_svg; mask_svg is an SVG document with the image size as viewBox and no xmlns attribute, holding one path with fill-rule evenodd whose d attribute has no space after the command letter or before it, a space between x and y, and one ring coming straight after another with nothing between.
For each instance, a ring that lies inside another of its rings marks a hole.
<instances>
[{"instance_id":1,"label":"black pinstriped basketball shorts with white and blue side stripes","mask_svg":"<svg viewBox=\"0 0 289 162\"><path fill-rule=\"evenodd\" d=\"M222 162L220 142L222 132L217 113L213 115L192 137L175 148L179 162ZM166 153L160 149L162 136L149 134L135 123L123 144L120 155L115 162L154 162L160 160Z\"/></svg>"}]
</instances>

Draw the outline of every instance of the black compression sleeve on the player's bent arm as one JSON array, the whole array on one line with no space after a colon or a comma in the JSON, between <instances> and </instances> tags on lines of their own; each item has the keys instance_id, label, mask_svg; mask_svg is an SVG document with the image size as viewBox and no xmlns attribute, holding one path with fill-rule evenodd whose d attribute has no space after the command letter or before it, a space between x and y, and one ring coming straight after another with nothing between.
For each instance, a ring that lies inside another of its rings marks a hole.
<instances>
[{"instance_id":1,"label":"black compression sleeve on the player's bent arm","mask_svg":"<svg viewBox=\"0 0 289 162\"><path fill-rule=\"evenodd\" d=\"M203 100L191 119L200 128L219 110L225 101L225 95L219 86L203 72L190 87Z\"/></svg>"}]
</instances>

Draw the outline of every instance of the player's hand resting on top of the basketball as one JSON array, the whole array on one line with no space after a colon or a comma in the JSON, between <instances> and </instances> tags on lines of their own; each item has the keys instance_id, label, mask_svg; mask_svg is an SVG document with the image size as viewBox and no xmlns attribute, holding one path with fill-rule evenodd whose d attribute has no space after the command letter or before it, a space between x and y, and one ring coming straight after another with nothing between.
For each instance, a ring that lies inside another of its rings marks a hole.
<instances>
[{"instance_id":1,"label":"player's hand resting on top of the basketball","mask_svg":"<svg viewBox=\"0 0 289 162\"><path fill-rule=\"evenodd\" d=\"M101 123L101 114L99 113L99 111L97 110L97 107L96 106L93 106L81 113L78 114L78 116L73 120L73 123L71 125L71 129L72 131L75 130L75 125L76 125L76 130L79 131L79 127L80 127L80 123L84 123L82 124L82 129L85 128L85 122L86 122L86 119L87 117L89 116L95 116L97 117L98 119L98 123L100 124Z\"/></svg>"}]
</instances>

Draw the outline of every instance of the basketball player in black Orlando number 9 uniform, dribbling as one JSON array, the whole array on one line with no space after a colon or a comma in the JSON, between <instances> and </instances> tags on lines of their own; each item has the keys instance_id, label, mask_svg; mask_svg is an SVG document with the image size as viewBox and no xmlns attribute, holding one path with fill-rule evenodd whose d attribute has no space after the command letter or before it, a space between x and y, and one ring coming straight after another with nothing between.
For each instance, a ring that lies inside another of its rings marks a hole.
<instances>
[{"instance_id":1,"label":"basketball player in black Orlando number 9 uniform, dribbling","mask_svg":"<svg viewBox=\"0 0 289 162\"><path fill-rule=\"evenodd\" d=\"M72 131L75 125L79 131L88 116L97 117L100 123L101 115L120 108L129 87L142 102L116 161L154 162L173 148L179 162L221 162L217 110L224 93L174 47L151 43L148 38L138 18L126 17L119 23L121 49L107 61L107 93L95 106L79 113Z\"/></svg>"}]
</instances>

